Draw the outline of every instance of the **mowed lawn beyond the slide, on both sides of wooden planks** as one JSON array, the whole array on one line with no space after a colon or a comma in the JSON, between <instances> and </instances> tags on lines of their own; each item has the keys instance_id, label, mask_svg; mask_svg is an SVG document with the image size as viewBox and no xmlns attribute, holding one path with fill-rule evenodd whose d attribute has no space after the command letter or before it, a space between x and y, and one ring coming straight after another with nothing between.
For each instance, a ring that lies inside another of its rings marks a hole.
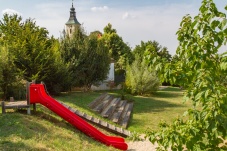
<instances>
[{"instance_id":1,"label":"mowed lawn beyond the slide, on both sides of wooden planks","mask_svg":"<svg viewBox=\"0 0 227 151\"><path fill-rule=\"evenodd\" d=\"M89 115L101 118L97 113L88 108L88 104L104 92L106 91L68 93L56 97L56 99L76 107ZM112 95L121 96L120 91L108 92ZM126 94L126 98L134 101L133 116L128 130L138 133L144 133L148 128L157 130L161 120L171 122L177 116L181 116L191 107L190 102L183 102L183 93L184 91L178 87L169 87L148 97Z\"/></svg>"}]
</instances>

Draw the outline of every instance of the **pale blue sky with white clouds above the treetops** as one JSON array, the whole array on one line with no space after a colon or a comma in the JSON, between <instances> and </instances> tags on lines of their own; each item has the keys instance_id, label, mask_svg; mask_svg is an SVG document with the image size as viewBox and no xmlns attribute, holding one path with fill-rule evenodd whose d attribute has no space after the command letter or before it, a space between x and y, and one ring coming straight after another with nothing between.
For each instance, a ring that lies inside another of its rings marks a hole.
<instances>
[{"instance_id":1,"label":"pale blue sky with white clouds above the treetops","mask_svg":"<svg viewBox=\"0 0 227 151\"><path fill-rule=\"evenodd\" d=\"M74 0L77 20L87 34L111 23L125 43L133 49L141 41L157 41L174 55L178 46L176 32L182 17L198 14L202 0ZM214 0L227 14L226 0ZM0 19L4 13L18 13L45 27L58 38L69 19L72 0L0 0ZM225 48L224 48L225 49ZM224 50L223 49L223 50ZM226 51L226 49L225 49Z\"/></svg>"}]
</instances>

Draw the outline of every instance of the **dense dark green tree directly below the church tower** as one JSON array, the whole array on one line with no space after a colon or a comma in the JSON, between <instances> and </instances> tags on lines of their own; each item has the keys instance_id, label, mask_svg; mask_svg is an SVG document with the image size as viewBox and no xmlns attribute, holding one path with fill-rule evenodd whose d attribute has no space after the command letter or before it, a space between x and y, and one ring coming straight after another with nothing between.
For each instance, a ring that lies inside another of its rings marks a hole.
<instances>
[{"instance_id":1,"label":"dense dark green tree directly below the church tower","mask_svg":"<svg viewBox=\"0 0 227 151\"><path fill-rule=\"evenodd\" d=\"M72 77L71 86L89 90L107 78L110 58L103 38L99 32L87 36L82 28L77 28L73 37L61 41L61 52L65 63L69 63Z\"/></svg>"}]
</instances>

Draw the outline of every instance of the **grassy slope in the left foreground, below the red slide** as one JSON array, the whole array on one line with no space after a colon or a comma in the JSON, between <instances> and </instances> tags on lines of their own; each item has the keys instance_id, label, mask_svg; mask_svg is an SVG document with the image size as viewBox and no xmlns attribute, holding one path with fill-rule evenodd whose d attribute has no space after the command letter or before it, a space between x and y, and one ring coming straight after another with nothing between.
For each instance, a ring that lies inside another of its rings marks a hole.
<instances>
[{"instance_id":1,"label":"grassy slope in the left foreground, below the red slide","mask_svg":"<svg viewBox=\"0 0 227 151\"><path fill-rule=\"evenodd\" d=\"M91 151L116 150L74 129L68 123L38 111L32 116L7 113L0 115L0 150Z\"/></svg>"}]
</instances>

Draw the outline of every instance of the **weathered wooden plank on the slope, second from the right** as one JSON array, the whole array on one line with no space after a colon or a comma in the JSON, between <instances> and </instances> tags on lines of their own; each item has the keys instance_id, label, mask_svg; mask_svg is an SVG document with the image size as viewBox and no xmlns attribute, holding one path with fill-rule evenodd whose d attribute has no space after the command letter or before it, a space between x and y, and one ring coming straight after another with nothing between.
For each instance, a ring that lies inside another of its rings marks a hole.
<instances>
[{"instance_id":1,"label":"weathered wooden plank on the slope, second from the right","mask_svg":"<svg viewBox=\"0 0 227 151\"><path fill-rule=\"evenodd\" d=\"M114 112L109 119L112 120L114 123L118 123L126 104L127 104L126 100L120 101L119 105L116 108L116 112Z\"/></svg>"}]
</instances>

